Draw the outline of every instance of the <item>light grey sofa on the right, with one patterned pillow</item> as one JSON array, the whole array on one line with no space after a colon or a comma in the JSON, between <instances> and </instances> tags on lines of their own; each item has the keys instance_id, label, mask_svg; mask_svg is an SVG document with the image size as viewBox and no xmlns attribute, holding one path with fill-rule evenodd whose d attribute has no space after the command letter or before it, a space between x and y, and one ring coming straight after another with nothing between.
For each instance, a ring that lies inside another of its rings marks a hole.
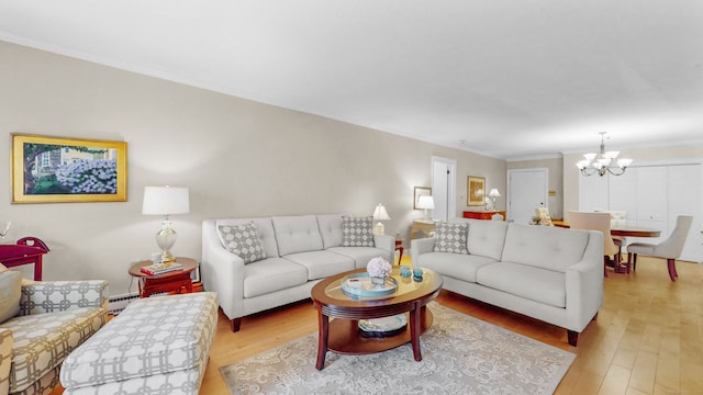
<instances>
[{"instance_id":1,"label":"light grey sofa on the right, with one patterned pillow","mask_svg":"<svg viewBox=\"0 0 703 395\"><path fill-rule=\"evenodd\" d=\"M448 291L566 328L574 347L603 303L600 232L458 218L412 240L411 257Z\"/></svg>"}]
</instances>

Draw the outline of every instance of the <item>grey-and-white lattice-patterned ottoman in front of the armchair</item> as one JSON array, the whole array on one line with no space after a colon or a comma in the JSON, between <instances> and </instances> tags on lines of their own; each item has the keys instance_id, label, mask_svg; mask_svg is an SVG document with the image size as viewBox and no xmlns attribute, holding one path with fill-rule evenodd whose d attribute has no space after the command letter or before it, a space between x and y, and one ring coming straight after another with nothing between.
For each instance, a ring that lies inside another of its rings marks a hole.
<instances>
[{"instance_id":1,"label":"grey-and-white lattice-patterned ottoman in front of the armchair","mask_svg":"<svg viewBox=\"0 0 703 395\"><path fill-rule=\"evenodd\" d=\"M213 292L135 301L64 360L64 394L198 394L216 324Z\"/></svg>"}]
</instances>

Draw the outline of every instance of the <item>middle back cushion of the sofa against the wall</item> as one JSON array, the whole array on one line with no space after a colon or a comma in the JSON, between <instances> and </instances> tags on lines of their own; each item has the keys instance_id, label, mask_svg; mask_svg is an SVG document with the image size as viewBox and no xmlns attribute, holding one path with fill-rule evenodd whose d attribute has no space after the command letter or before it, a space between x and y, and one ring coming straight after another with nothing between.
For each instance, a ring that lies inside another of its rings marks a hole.
<instances>
[{"instance_id":1,"label":"middle back cushion of the sofa against the wall","mask_svg":"<svg viewBox=\"0 0 703 395\"><path fill-rule=\"evenodd\" d=\"M322 250L322 236L315 215L274 217L274 232L278 242L278 253Z\"/></svg>"}]
</instances>

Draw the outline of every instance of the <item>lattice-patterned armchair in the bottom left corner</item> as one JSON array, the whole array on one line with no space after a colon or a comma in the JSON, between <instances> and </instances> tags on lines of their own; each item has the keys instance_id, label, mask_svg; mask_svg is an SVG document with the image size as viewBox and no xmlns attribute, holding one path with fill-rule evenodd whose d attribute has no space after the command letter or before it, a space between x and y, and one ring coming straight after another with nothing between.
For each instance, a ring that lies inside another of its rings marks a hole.
<instances>
[{"instance_id":1,"label":"lattice-patterned armchair in the bottom left corner","mask_svg":"<svg viewBox=\"0 0 703 395\"><path fill-rule=\"evenodd\" d=\"M3 268L7 304L18 296L11 291L14 278L21 279ZM101 280L21 284L19 313L0 314L0 395L51 393L64 358L104 325L108 296L108 282Z\"/></svg>"}]
</instances>

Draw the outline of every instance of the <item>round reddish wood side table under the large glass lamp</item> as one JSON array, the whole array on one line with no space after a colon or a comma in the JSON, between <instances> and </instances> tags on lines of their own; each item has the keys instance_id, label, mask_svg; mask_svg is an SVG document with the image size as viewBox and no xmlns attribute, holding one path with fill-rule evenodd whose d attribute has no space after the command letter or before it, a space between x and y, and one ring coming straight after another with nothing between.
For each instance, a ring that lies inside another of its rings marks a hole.
<instances>
[{"instance_id":1,"label":"round reddish wood side table under the large glass lamp","mask_svg":"<svg viewBox=\"0 0 703 395\"><path fill-rule=\"evenodd\" d=\"M154 263L150 260L132 264L130 267L130 274L140 281L140 297L149 297L152 294L159 292L181 293L183 289L186 293L193 292L193 282L190 279L190 272L198 268L198 261L192 258L177 257L176 262L182 264L183 269L155 275L142 272L142 267Z\"/></svg>"}]
</instances>

